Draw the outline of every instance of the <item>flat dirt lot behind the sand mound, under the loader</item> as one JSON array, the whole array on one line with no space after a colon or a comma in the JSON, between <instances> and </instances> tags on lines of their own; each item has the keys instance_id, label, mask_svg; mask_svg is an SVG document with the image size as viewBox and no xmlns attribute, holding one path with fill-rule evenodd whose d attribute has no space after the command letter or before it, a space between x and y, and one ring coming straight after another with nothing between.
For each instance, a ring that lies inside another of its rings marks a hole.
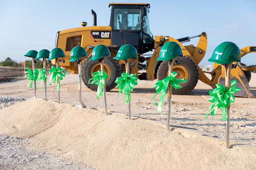
<instances>
[{"instance_id":1,"label":"flat dirt lot behind the sand mound, under the loader","mask_svg":"<svg viewBox=\"0 0 256 170\"><path fill-rule=\"evenodd\" d=\"M48 76L50 78L50 76ZM49 78L48 81L49 82ZM28 88L29 80L6 82L0 84L0 95L13 97L33 97L33 88ZM131 92L132 115L150 118L159 121L167 119L167 95L162 107L162 114L157 112L152 97L156 94L154 81L138 80L138 85ZM252 93L256 94L256 73L252 73L249 82ZM44 91L39 90L40 82L37 82L37 97L44 98ZM58 100L57 83L47 83L47 98ZM192 92L187 95L172 95L171 123L185 125L198 130L203 130L214 136L225 138L225 121L221 121L221 115L209 115L205 120L205 114L211 105L208 101L209 91L212 88L200 80ZM78 105L78 75L67 73L60 81L60 101ZM158 102L159 96L155 101ZM103 98L96 99L96 92L88 89L82 83L82 100L86 106L104 109ZM235 103L231 103L230 110L230 139L242 141L245 144L256 146L256 99L236 97ZM107 107L109 112L128 113L124 95L118 92L118 88L107 92ZM221 113L221 111L219 111Z\"/></svg>"}]
</instances>

